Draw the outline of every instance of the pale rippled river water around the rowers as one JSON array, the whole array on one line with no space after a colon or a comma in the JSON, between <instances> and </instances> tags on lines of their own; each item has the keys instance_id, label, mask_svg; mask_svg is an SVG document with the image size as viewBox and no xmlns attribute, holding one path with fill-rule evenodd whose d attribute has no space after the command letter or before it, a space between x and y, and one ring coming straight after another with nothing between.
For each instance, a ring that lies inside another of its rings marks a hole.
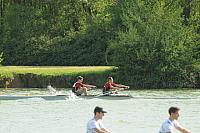
<instances>
[{"instance_id":1,"label":"pale rippled river water around the rowers","mask_svg":"<svg viewBox=\"0 0 200 133\"><path fill-rule=\"evenodd\" d=\"M100 91L91 91L99 93ZM48 94L46 90L0 90L2 94ZM69 93L62 90L62 93ZM181 108L179 123L192 133L200 132L200 90L123 91L134 96L125 100L41 98L0 101L0 133L86 133L95 106L108 113L104 126L112 133L158 133L168 118L168 108ZM175 133L178 133L175 131Z\"/></svg>"}]
</instances>

